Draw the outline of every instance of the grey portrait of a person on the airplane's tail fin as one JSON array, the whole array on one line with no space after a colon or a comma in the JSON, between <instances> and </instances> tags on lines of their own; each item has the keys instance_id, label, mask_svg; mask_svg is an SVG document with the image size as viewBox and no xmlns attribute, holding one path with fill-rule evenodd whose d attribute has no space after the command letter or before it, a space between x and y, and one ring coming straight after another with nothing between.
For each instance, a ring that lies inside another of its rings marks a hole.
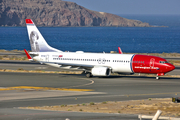
<instances>
[{"instance_id":1,"label":"grey portrait of a person on the airplane's tail fin","mask_svg":"<svg viewBox=\"0 0 180 120\"><path fill-rule=\"evenodd\" d=\"M32 31L30 34L30 43L31 43L31 50L33 52L39 52L39 44L38 44L39 35L36 31Z\"/></svg>"}]
</instances>

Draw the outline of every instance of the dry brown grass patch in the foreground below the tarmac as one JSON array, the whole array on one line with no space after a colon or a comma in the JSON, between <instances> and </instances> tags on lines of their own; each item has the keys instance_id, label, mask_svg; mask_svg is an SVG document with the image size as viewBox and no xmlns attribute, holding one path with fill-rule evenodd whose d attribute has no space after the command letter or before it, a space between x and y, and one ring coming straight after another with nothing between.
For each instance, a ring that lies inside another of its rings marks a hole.
<instances>
[{"instance_id":1,"label":"dry brown grass patch in the foreground below the tarmac","mask_svg":"<svg viewBox=\"0 0 180 120\"><path fill-rule=\"evenodd\" d=\"M71 105L73 107L61 107L61 106L43 106L43 107L31 107L22 109L40 109L40 110L57 110L57 111L83 111L83 112L94 112L94 113L122 113L122 114L145 114L153 115L157 112L157 109L163 110L162 116L180 116L179 107L180 104L172 103L172 98L150 98L145 100L130 100L130 101L118 101L110 102L110 104L96 103L95 105L77 106L76 104ZM93 103L93 102L91 102ZM109 102L108 102L109 103Z\"/></svg>"}]
</instances>

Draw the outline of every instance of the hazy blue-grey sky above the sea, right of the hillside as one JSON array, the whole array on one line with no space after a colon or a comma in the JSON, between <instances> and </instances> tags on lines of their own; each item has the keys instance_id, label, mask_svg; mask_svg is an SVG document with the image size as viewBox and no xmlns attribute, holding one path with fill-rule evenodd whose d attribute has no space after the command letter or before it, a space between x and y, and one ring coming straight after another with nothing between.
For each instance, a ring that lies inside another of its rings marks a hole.
<instances>
[{"instance_id":1,"label":"hazy blue-grey sky above the sea, right of the hillside","mask_svg":"<svg viewBox=\"0 0 180 120\"><path fill-rule=\"evenodd\" d=\"M180 0L64 0L113 14L179 14Z\"/></svg>"}]
</instances>

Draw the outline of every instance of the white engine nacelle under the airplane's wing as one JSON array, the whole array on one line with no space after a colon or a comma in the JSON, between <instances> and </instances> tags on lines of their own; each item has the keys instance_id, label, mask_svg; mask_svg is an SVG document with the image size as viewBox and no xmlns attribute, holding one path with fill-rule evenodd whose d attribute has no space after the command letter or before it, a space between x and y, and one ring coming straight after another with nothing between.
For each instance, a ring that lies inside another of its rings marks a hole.
<instances>
[{"instance_id":1,"label":"white engine nacelle under the airplane's wing","mask_svg":"<svg viewBox=\"0 0 180 120\"><path fill-rule=\"evenodd\" d=\"M94 67L91 73L93 76L109 76L111 74L111 69L108 67Z\"/></svg>"}]
</instances>

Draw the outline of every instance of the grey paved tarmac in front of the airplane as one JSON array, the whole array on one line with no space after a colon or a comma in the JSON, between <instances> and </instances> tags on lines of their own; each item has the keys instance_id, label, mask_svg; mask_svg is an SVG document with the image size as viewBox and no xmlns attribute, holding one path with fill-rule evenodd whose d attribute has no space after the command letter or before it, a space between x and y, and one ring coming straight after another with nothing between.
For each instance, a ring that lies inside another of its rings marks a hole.
<instances>
[{"instance_id":1,"label":"grey paved tarmac in front of the airplane","mask_svg":"<svg viewBox=\"0 0 180 120\"><path fill-rule=\"evenodd\" d=\"M111 76L89 79L84 75L5 72L1 72L0 76L1 89L19 86L17 90L0 91L0 119L3 120L12 118L137 119L136 115L20 110L17 107L169 98L180 94L179 78L162 77L156 80L154 77L143 76ZM29 89L27 86L32 86L34 89ZM36 89L36 87L41 89ZM48 88L66 88L69 91Z\"/></svg>"}]
</instances>

